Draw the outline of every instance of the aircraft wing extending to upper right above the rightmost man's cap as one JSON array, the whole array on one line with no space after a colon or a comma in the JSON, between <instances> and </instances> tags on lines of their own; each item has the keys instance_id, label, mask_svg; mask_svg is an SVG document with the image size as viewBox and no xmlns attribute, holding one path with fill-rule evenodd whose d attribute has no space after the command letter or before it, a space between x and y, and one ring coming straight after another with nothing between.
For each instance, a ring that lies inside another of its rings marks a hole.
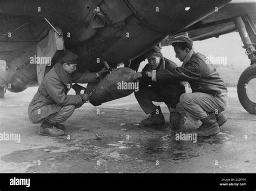
<instances>
[{"instance_id":1,"label":"aircraft wing extending to upper right above the rightmost man's cap","mask_svg":"<svg viewBox=\"0 0 256 191\"><path fill-rule=\"evenodd\" d=\"M234 17L249 16L250 23L256 24L256 1L232 1L223 8L215 8L215 12L189 28L180 31L161 43L162 46L171 45L171 40L177 36L188 35L193 40L204 40L212 37L219 37L226 33L234 32L237 29L233 22ZM254 29L254 25L252 26ZM255 30L254 30L255 31Z\"/></svg>"}]
</instances>

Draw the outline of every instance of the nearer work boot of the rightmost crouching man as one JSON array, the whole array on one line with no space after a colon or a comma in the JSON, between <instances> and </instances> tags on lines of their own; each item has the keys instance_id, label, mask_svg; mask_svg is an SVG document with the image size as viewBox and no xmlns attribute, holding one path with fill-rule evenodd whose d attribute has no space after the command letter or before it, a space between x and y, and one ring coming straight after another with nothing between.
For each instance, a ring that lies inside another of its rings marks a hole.
<instances>
[{"instance_id":1,"label":"nearer work boot of the rightmost crouching man","mask_svg":"<svg viewBox=\"0 0 256 191\"><path fill-rule=\"evenodd\" d=\"M210 113L208 117L201 119L201 121L203 124L197 128L195 132L197 133L198 137L215 135L220 132L220 128L214 113Z\"/></svg>"}]
</instances>

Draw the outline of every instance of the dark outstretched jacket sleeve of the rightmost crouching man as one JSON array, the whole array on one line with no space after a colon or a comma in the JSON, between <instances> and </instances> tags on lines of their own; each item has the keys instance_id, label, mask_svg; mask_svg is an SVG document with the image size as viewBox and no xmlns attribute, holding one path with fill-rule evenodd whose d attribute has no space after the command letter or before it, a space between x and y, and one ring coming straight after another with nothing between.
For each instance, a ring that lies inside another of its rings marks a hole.
<instances>
[{"instance_id":1,"label":"dark outstretched jacket sleeve of the rightmost crouching man","mask_svg":"<svg viewBox=\"0 0 256 191\"><path fill-rule=\"evenodd\" d=\"M187 63L184 67L181 66L168 70L158 70L156 71L156 74L152 72L152 79L154 79L154 81L196 81L200 79L200 76L201 71L199 66L191 63Z\"/></svg>"}]
</instances>

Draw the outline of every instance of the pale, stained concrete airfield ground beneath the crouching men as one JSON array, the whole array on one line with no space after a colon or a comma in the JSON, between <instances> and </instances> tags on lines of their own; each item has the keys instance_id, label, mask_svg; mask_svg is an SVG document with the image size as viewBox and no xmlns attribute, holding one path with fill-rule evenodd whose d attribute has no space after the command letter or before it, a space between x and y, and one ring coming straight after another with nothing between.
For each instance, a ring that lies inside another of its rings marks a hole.
<instances>
[{"instance_id":1,"label":"pale, stained concrete airfield ground beneath the crouching men","mask_svg":"<svg viewBox=\"0 0 256 191\"><path fill-rule=\"evenodd\" d=\"M176 133L196 127L187 120L185 128L170 128L164 103L164 126L134 126L146 115L133 94L98 107L84 104L65 122L64 136L44 137L27 114L36 91L7 91L0 100L0 133L21 135L20 142L0 141L0 173L256 172L256 115L242 108L234 87L221 132L196 142L176 141Z\"/></svg>"}]
</instances>

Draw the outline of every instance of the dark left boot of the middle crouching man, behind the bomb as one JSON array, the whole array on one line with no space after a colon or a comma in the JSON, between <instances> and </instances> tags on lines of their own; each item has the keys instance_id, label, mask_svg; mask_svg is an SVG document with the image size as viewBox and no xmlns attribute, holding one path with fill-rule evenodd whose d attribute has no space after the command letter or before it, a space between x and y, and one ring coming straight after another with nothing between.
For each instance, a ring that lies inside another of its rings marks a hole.
<instances>
[{"instance_id":1,"label":"dark left boot of the middle crouching man, behind the bomb","mask_svg":"<svg viewBox=\"0 0 256 191\"><path fill-rule=\"evenodd\" d=\"M161 112L160 106L152 112L147 119L142 120L143 125L163 125L165 124L164 115Z\"/></svg>"}]
</instances>

